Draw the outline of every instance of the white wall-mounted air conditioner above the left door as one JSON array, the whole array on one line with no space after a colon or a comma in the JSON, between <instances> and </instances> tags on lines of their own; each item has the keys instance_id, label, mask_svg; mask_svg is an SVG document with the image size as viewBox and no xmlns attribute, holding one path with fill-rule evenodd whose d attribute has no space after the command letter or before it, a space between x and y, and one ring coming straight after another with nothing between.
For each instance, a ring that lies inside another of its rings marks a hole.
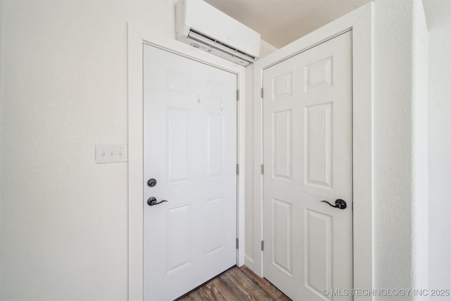
<instances>
[{"instance_id":1,"label":"white wall-mounted air conditioner above the left door","mask_svg":"<svg viewBox=\"0 0 451 301\"><path fill-rule=\"evenodd\" d=\"M181 42L242 66L259 57L259 33L202 0L180 0L175 20Z\"/></svg>"}]
</instances>

